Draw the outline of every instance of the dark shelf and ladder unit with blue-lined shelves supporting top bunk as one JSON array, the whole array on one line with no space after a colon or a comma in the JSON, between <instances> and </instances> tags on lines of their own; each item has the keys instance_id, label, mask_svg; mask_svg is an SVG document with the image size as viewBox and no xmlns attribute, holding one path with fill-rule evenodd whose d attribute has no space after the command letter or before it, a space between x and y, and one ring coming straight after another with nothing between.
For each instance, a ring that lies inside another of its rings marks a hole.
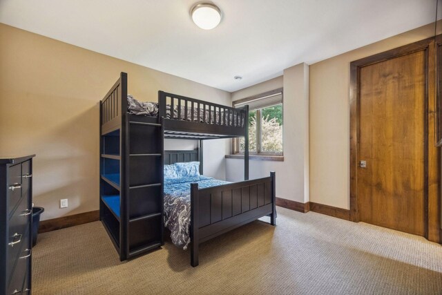
<instances>
[{"instance_id":1,"label":"dark shelf and ladder unit with blue-lined shelves supporting top bunk","mask_svg":"<svg viewBox=\"0 0 442 295\"><path fill-rule=\"evenodd\" d=\"M162 119L131 121L126 85L122 73L100 104L100 220L120 260L164 244Z\"/></svg>"}]
</instances>

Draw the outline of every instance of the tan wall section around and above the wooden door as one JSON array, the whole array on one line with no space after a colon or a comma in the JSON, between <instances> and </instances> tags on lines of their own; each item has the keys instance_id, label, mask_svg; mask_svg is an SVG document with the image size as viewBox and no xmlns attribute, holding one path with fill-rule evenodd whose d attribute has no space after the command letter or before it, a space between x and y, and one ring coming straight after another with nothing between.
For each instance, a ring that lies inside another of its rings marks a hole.
<instances>
[{"instance_id":1,"label":"tan wall section around and above the wooden door","mask_svg":"<svg viewBox=\"0 0 442 295\"><path fill-rule=\"evenodd\" d=\"M430 24L310 65L311 202L349 209L350 62L433 35Z\"/></svg>"}]
</instances>

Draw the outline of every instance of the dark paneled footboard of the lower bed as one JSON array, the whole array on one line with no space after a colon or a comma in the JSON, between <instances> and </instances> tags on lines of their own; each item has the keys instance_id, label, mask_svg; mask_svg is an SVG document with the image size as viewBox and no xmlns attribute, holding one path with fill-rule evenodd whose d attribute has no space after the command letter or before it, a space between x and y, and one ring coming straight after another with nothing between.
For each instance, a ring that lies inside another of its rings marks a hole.
<instances>
[{"instance_id":1,"label":"dark paneled footboard of the lower bed","mask_svg":"<svg viewBox=\"0 0 442 295\"><path fill-rule=\"evenodd\" d=\"M191 184L191 265L198 265L198 245L270 215L276 225L275 173L270 177L198 189Z\"/></svg>"}]
</instances>

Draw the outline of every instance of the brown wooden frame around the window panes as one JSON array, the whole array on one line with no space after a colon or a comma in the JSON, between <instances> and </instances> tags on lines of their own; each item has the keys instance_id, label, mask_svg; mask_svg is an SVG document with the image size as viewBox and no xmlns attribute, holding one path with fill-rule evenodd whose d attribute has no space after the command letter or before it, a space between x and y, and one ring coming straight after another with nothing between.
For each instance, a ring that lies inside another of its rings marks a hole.
<instances>
[{"instance_id":1,"label":"brown wooden frame around the window panes","mask_svg":"<svg viewBox=\"0 0 442 295\"><path fill-rule=\"evenodd\" d=\"M255 99L259 99L261 97L273 95L276 93L281 93L281 104L282 104L282 129L284 129L284 88L277 88L272 91L267 91L265 93L260 93L258 95L253 95L251 97L246 97L243 99L238 99L234 102L232 102L233 108L236 104L244 104L244 102L251 102ZM270 107L273 105L269 105L266 107ZM249 155L253 156L275 156L275 157L282 157L284 156L284 137L282 137L282 153L269 153L269 152L262 152L261 151L261 141L262 141L262 129L261 129L261 109L255 109L255 110L249 110L250 111L256 111L256 151L250 151L249 149ZM240 140L239 138L233 138L232 139L232 155L244 155L244 153L240 152Z\"/></svg>"}]
</instances>

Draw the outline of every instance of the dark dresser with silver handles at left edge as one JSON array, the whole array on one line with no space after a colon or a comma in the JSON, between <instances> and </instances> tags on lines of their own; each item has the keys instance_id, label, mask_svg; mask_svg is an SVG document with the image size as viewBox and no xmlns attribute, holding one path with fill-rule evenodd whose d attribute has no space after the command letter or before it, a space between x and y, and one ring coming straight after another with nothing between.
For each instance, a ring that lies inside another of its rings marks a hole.
<instances>
[{"instance_id":1,"label":"dark dresser with silver handles at left edge","mask_svg":"<svg viewBox=\"0 0 442 295\"><path fill-rule=\"evenodd\" d=\"M0 156L0 294L31 293L34 157Z\"/></svg>"}]
</instances>

